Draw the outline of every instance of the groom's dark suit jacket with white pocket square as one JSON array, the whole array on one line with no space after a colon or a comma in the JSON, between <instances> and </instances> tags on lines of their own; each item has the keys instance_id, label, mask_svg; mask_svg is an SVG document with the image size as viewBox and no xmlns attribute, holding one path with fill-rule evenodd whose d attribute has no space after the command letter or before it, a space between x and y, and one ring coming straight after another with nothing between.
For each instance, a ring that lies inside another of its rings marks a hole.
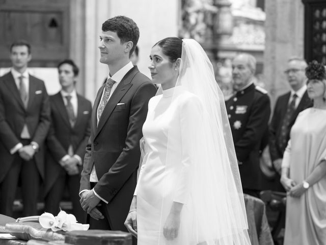
<instances>
[{"instance_id":1,"label":"groom's dark suit jacket with white pocket square","mask_svg":"<svg viewBox=\"0 0 326 245\"><path fill-rule=\"evenodd\" d=\"M139 140L143 135L148 101L155 95L156 87L134 66L111 95L97 126L97 107L103 88L99 89L94 102L80 190L91 189L90 173L95 164L99 182L94 190L108 201L110 227L126 231L123 223L137 182Z\"/></svg>"}]
</instances>

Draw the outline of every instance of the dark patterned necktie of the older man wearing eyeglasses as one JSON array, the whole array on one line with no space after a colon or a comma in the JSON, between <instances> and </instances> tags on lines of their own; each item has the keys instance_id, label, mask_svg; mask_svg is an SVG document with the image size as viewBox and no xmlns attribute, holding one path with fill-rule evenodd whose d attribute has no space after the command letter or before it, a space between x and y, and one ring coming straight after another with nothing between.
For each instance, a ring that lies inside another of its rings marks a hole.
<instances>
[{"instance_id":1,"label":"dark patterned necktie of the older man wearing eyeglasses","mask_svg":"<svg viewBox=\"0 0 326 245\"><path fill-rule=\"evenodd\" d=\"M278 140L279 147L282 151L282 153L285 151L288 135L289 135L289 125L290 125L290 119L293 115L293 112L295 111L295 101L296 101L297 95L294 93L292 96L292 101L288 105L284 119L282 121L282 127L281 127L281 133Z\"/></svg>"}]
</instances>

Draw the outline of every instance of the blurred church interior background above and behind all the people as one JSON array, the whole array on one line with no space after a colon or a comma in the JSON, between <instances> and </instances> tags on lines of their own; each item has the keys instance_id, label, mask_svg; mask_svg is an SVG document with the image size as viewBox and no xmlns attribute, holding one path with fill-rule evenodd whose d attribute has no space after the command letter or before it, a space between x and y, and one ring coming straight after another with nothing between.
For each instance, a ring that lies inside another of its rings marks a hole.
<instances>
[{"instance_id":1,"label":"blurred church interior background above and behind all the people","mask_svg":"<svg viewBox=\"0 0 326 245\"><path fill-rule=\"evenodd\" d=\"M284 67L291 56L326 63L324 0L0 0L0 75L11 66L12 41L32 44L31 72L49 93L60 89L56 66L80 67L77 91L91 101L107 76L99 63L102 23L126 15L140 28L138 66L147 68L151 46L168 36L195 38L210 57L226 97L232 93L231 60L240 52L257 59L256 83L272 104L288 90ZM305 33L307 33L305 35Z\"/></svg>"}]
</instances>

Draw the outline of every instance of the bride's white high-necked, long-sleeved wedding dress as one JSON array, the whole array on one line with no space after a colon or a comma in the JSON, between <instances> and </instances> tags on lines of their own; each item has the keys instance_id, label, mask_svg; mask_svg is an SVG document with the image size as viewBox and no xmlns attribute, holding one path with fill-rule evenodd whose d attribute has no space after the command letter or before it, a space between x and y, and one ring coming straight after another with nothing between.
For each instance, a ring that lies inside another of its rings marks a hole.
<instances>
[{"instance_id":1,"label":"bride's white high-necked, long-sleeved wedding dress","mask_svg":"<svg viewBox=\"0 0 326 245\"><path fill-rule=\"evenodd\" d=\"M139 245L185 244L183 241L189 238L183 237L182 227L186 224L181 224L178 237L168 241L163 235L163 226L173 201L184 203L181 215L189 215L187 170L191 163L188 162L187 135L191 132L187 125L194 124L200 115L196 99L195 95L176 87L163 90L162 95L149 102L143 126L146 155L136 187ZM171 156L167 156L168 134L173 135L169 140L169 147L174 149Z\"/></svg>"}]
</instances>

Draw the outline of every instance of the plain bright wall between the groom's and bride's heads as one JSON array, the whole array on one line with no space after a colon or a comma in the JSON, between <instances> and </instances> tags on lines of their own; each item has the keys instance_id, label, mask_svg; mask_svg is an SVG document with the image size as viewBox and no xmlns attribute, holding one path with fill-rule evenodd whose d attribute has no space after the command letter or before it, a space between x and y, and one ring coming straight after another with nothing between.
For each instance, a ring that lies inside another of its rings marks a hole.
<instances>
[{"instance_id":1,"label":"plain bright wall between the groom's and bride's heads","mask_svg":"<svg viewBox=\"0 0 326 245\"><path fill-rule=\"evenodd\" d=\"M140 30L138 68L150 77L149 54L160 39L178 34L178 0L119 0L111 1L110 17L125 15L132 18Z\"/></svg>"}]
</instances>

